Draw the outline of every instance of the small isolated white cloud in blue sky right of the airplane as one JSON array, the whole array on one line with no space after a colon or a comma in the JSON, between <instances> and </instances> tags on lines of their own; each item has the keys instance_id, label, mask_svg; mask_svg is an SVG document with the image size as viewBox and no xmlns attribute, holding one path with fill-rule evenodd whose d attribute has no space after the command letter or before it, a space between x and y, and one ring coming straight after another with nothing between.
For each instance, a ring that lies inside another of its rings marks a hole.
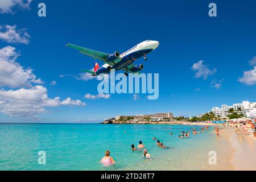
<instances>
[{"instance_id":1,"label":"small isolated white cloud in blue sky right of the airplane","mask_svg":"<svg viewBox=\"0 0 256 182\"><path fill-rule=\"evenodd\" d=\"M192 70L195 71L195 78L203 77L204 80L206 80L209 76L214 75L216 73L217 69L214 68L210 70L209 65L204 65L204 61L200 60L197 63L194 63L192 66Z\"/></svg>"}]
</instances>

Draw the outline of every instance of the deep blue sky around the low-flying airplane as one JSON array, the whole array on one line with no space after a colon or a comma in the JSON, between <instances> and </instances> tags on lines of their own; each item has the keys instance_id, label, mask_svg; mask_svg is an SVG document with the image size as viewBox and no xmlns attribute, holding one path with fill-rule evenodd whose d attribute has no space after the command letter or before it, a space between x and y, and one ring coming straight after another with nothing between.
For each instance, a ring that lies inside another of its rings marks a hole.
<instances>
[{"instance_id":1,"label":"deep blue sky around the low-flying airplane","mask_svg":"<svg viewBox=\"0 0 256 182\"><path fill-rule=\"evenodd\" d=\"M29 35L27 43L2 38L0 48L14 47L20 55L16 63L31 68L42 82L0 87L7 93L41 85L48 98L60 97L60 102L42 106L44 111L33 113L36 117L10 114L9 107L0 104L0 122L97 122L94 119L169 111L191 116L221 104L255 101L255 1L214 1L217 17L212 18L208 16L210 1L43 2L47 7L43 18L37 15L39 1L2 9L0 14L0 26L16 25L16 32ZM79 79L79 70L92 68L94 61L65 47L66 43L113 53L147 39L158 40L160 45L148 61L137 63L144 65L144 73L159 73L158 100L147 100L146 94L139 94L139 100L133 100L133 94L96 100L84 97L97 94L99 81ZM68 97L73 104L62 102Z\"/></svg>"}]
</instances>

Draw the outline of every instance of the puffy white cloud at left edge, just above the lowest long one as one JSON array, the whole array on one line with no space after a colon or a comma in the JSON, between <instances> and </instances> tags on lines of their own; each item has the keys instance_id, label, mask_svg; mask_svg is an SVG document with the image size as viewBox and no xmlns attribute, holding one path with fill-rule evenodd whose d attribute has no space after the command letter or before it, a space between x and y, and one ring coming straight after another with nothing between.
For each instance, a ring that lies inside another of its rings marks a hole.
<instances>
[{"instance_id":1,"label":"puffy white cloud at left edge, just above the lowest long one","mask_svg":"<svg viewBox=\"0 0 256 182\"><path fill-rule=\"evenodd\" d=\"M31 68L25 69L16 62L18 56L19 53L14 47L0 49L0 87L18 88L31 86L31 83L43 84L43 81L32 73Z\"/></svg>"}]
</instances>

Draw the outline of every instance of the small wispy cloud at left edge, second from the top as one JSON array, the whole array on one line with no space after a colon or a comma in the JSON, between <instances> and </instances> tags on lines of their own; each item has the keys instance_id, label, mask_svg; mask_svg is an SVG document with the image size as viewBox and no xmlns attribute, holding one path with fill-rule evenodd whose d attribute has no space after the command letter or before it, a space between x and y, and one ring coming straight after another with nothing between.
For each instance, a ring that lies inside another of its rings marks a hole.
<instances>
[{"instance_id":1,"label":"small wispy cloud at left edge, second from the top","mask_svg":"<svg viewBox=\"0 0 256 182\"><path fill-rule=\"evenodd\" d=\"M0 39L7 43L28 44L30 35L28 35L26 28L16 29L16 25L6 25L5 27L0 26Z\"/></svg>"}]
</instances>

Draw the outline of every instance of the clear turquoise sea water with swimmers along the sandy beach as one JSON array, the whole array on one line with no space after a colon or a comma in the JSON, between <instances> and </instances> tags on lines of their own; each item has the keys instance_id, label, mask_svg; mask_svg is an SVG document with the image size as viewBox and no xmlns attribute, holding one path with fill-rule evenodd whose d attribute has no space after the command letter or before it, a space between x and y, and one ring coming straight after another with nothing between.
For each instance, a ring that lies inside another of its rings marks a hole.
<instances>
[{"instance_id":1,"label":"clear turquoise sea water with swimmers along the sandy beach","mask_svg":"<svg viewBox=\"0 0 256 182\"><path fill-rule=\"evenodd\" d=\"M203 170L209 166L208 153L222 147L213 127L205 133L179 139L188 125L99 125L99 124L0 124L0 170ZM170 132L174 135L170 135ZM170 148L156 146L156 137ZM150 160L131 144L142 140ZM117 162L103 167L105 150ZM38 164L38 152L46 152L46 165Z\"/></svg>"}]
</instances>

